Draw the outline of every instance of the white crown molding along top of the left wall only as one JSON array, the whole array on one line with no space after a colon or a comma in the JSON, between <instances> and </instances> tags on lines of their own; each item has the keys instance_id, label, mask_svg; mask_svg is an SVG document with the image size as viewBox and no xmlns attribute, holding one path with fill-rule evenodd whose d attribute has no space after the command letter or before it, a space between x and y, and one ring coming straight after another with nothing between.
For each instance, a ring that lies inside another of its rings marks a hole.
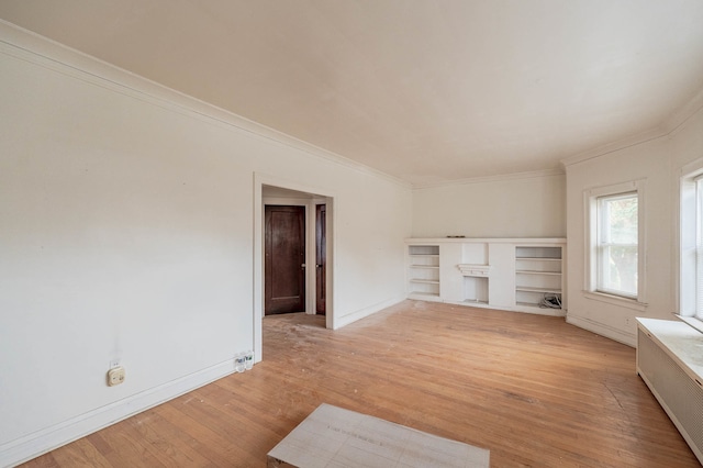
<instances>
[{"instance_id":1,"label":"white crown molding along top of the left wall only","mask_svg":"<svg viewBox=\"0 0 703 468\"><path fill-rule=\"evenodd\" d=\"M411 183L168 88L0 19L0 53L201 121L303 152L410 189Z\"/></svg>"}]
</instances>

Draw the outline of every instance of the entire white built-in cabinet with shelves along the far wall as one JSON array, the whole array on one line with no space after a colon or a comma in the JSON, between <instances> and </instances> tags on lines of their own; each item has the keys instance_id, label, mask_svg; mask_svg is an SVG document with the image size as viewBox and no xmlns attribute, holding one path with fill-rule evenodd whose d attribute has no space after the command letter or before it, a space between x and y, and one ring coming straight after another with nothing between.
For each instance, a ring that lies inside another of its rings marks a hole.
<instances>
[{"instance_id":1,"label":"entire white built-in cabinet with shelves along the far wall","mask_svg":"<svg viewBox=\"0 0 703 468\"><path fill-rule=\"evenodd\" d=\"M565 238L409 238L409 298L566 314Z\"/></svg>"}]
</instances>

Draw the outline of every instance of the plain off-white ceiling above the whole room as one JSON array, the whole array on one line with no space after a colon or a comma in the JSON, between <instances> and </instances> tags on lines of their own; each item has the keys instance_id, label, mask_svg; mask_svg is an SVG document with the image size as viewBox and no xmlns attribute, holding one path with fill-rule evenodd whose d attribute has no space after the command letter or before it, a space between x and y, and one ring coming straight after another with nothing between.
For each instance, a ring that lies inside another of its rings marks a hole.
<instances>
[{"instance_id":1,"label":"plain off-white ceiling above the whole room","mask_svg":"<svg viewBox=\"0 0 703 468\"><path fill-rule=\"evenodd\" d=\"M414 183L555 169L703 88L701 0L0 0L0 19Z\"/></svg>"}]
</instances>

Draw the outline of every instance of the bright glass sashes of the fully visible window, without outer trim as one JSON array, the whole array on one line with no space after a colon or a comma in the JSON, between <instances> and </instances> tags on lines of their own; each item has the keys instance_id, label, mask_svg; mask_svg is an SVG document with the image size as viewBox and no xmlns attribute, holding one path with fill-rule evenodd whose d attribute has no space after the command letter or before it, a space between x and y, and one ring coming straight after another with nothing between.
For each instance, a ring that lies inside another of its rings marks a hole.
<instances>
[{"instance_id":1,"label":"bright glass sashes of the fully visible window, without outer trim","mask_svg":"<svg viewBox=\"0 0 703 468\"><path fill-rule=\"evenodd\" d=\"M637 298L637 192L596 199L596 288Z\"/></svg>"}]
</instances>

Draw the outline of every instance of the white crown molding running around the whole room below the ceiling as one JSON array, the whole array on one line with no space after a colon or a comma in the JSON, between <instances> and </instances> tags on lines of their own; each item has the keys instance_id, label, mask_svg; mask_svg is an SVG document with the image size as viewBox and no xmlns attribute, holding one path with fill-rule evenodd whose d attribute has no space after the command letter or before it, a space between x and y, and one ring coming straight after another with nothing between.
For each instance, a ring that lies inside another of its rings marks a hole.
<instances>
[{"instance_id":1,"label":"white crown molding running around the whole room below the ceiling","mask_svg":"<svg viewBox=\"0 0 703 468\"><path fill-rule=\"evenodd\" d=\"M326 161L332 161L359 172L379 177L394 185L413 190L535 177L549 177L565 174L563 169L546 169L440 182L411 183L406 180L357 163L337 153L321 148L311 143L248 120L231 111L210 104L180 91L176 91L156 81L152 81L1 19L0 53L110 89L114 92L130 96L134 99L138 99L170 111L187 114L201 121L208 121L212 124L226 126L231 130L247 134L250 137L275 142ZM703 89L701 89L701 91L699 91L685 105L671 114L671 116L669 116L661 125L631 137L563 158L560 163L563 168L567 168L631 146L636 146L663 136L672 136L701 110L703 110Z\"/></svg>"}]
</instances>

